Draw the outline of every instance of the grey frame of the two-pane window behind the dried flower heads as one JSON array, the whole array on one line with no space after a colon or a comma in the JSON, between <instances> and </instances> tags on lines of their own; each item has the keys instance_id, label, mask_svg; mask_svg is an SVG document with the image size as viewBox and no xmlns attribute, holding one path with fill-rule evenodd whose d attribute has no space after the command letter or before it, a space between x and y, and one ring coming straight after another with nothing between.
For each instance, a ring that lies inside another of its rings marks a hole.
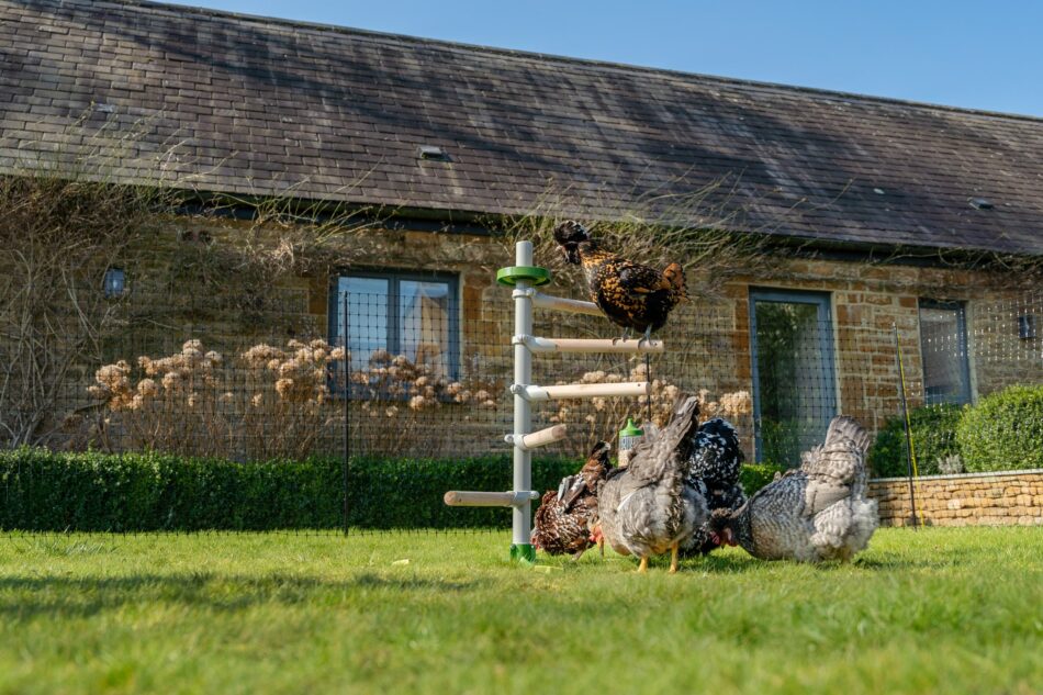
<instances>
[{"instance_id":1,"label":"grey frame of the two-pane window behind the dried flower heads","mask_svg":"<svg viewBox=\"0 0 1043 695\"><path fill-rule=\"evenodd\" d=\"M386 336L386 350L391 355L401 355L401 330L402 316L401 307L399 305L401 299L401 292L399 285L402 281L406 282L445 282L449 287L448 296L449 296L449 328L448 328L448 363L449 363L449 373L446 374L446 379L449 381L457 381L460 378L461 363L460 363L460 313L461 313L461 302L460 302L460 277L458 273L449 271L437 271L437 270L401 270L397 268L388 268L388 269L374 269L374 268L365 268L365 269L355 269L355 268L345 268L338 270L329 282L329 295L328 295L328 311L327 311L327 327L326 335L328 336L328 341L330 345L340 345L339 340L343 339L337 333L337 327L339 326L339 320L343 317L338 315L341 311L340 304L340 280L341 278L369 278L375 280L386 280L388 281L388 336ZM348 341L344 340L345 349L348 349Z\"/></svg>"}]
</instances>

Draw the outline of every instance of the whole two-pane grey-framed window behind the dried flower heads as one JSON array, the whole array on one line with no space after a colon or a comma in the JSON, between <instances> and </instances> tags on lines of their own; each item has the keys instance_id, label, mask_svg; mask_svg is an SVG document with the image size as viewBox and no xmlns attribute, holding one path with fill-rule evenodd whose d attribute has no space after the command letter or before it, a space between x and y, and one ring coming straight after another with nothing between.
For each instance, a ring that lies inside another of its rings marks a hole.
<instances>
[{"instance_id":1,"label":"whole two-pane grey-framed window behind the dried flower heads","mask_svg":"<svg viewBox=\"0 0 1043 695\"><path fill-rule=\"evenodd\" d=\"M344 274L334 283L330 296L329 341L343 345L347 335L352 372L370 367L375 355L386 351L426 363L446 379L457 379L457 280L450 274Z\"/></svg>"}]
</instances>

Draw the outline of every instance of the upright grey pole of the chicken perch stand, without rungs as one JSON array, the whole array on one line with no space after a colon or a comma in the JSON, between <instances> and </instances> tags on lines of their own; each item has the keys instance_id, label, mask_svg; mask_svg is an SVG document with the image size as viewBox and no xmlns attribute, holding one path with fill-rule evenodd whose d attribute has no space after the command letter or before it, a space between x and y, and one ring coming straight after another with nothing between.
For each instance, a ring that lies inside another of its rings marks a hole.
<instances>
[{"instance_id":1,"label":"upright grey pole of the chicken perch stand, without rungs","mask_svg":"<svg viewBox=\"0 0 1043 695\"><path fill-rule=\"evenodd\" d=\"M515 265L532 265L532 243L518 242L515 247ZM525 290L530 283L518 280L514 292L514 335L532 335L532 298ZM514 344L514 383L532 383L532 355L520 341ZM527 435L532 430L532 406L519 393L514 394L514 434ZM514 448L514 491L526 492L532 489L532 453L520 447ZM525 562L536 561L532 548L531 528L532 503L525 500L514 507L513 534L511 539L511 559Z\"/></svg>"}]
</instances>

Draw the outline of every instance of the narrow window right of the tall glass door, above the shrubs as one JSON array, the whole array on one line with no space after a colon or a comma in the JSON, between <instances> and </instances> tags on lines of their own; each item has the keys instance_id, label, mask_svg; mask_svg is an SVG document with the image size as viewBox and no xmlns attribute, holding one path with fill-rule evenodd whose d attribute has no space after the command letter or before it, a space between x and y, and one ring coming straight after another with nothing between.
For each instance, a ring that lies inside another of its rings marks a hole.
<instances>
[{"instance_id":1,"label":"narrow window right of the tall glass door, above the shrubs","mask_svg":"<svg viewBox=\"0 0 1043 695\"><path fill-rule=\"evenodd\" d=\"M920 300L920 355L928 405L971 402L967 322L961 302Z\"/></svg>"}]
</instances>

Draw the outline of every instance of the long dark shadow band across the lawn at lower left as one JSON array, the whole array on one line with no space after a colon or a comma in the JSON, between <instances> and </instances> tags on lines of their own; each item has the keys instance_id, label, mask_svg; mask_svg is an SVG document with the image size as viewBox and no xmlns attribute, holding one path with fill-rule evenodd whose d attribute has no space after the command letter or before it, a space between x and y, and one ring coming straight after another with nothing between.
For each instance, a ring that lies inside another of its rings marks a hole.
<instances>
[{"instance_id":1,"label":"long dark shadow band across the lawn at lower left","mask_svg":"<svg viewBox=\"0 0 1043 695\"><path fill-rule=\"evenodd\" d=\"M352 603L367 592L401 596L413 593L463 593L482 588L484 580L392 578L363 573L344 581L271 574L263 578L213 572L141 574L120 578L0 578L0 616L90 617L127 605L181 604L214 610L244 610L257 605ZM388 596L382 595L381 601Z\"/></svg>"}]
</instances>

